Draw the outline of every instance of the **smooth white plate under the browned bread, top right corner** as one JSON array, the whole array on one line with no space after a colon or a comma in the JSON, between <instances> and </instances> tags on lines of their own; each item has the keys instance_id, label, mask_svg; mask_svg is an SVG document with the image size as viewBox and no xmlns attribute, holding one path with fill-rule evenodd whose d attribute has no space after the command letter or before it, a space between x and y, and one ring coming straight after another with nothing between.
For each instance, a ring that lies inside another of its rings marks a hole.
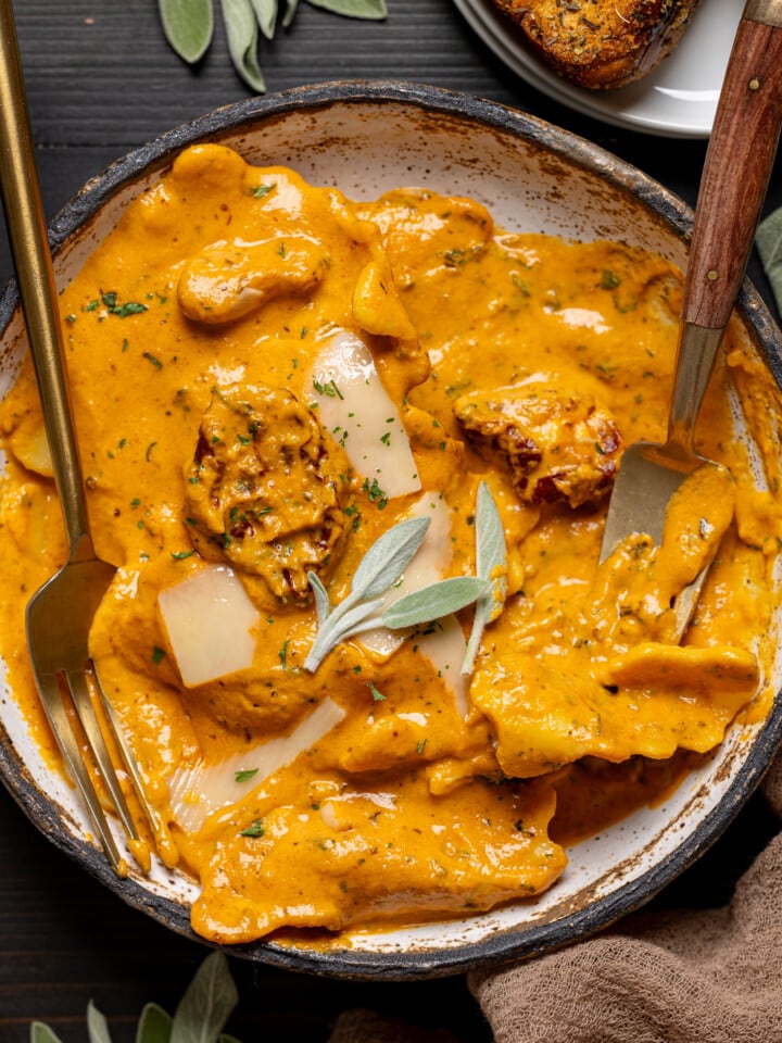
<instances>
[{"instance_id":1,"label":"smooth white plate under the browned bread, top right corner","mask_svg":"<svg viewBox=\"0 0 782 1043\"><path fill-rule=\"evenodd\" d=\"M744 0L703 0L679 47L654 73L619 90L591 91L553 73L489 0L454 0L472 29L538 90L615 126L671 138L707 138Z\"/></svg>"}]
</instances>

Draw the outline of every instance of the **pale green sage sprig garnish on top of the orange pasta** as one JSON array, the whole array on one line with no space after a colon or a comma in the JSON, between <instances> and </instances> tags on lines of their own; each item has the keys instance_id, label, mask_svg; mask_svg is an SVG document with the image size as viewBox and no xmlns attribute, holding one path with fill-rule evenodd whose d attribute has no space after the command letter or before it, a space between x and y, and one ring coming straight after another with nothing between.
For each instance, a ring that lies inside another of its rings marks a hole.
<instances>
[{"instance_id":1,"label":"pale green sage sprig garnish on top of the orange pasta","mask_svg":"<svg viewBox=\"0 0 782 1043\"><path fill-rule=\"evenodd\" d=\"M503 610L506 589L505 533L489 487L481 482L476 505L477 576L452 576L399 598L379 616L384 596L400 579L424 542L428 518L408 518L384 532L369 548L353 577L348 596L335 608L328 591L315 573L307 578L315 598L318 632L304 661L315 673L329 652L342 641L376 627L402 630L433 623L476 603L472 631L462 673L472 670L487 624Z\"/></svg>"}]
</instances>

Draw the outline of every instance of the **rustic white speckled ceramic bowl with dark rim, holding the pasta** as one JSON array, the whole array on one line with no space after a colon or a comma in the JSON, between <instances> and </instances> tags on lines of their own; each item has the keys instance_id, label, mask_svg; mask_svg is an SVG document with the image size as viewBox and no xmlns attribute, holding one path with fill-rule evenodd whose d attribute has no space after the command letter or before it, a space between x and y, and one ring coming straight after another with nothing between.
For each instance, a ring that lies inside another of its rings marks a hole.
<instances>
[{"instance_id":1,"label":"rustic white speckled ceramic bowl with dark rim, holding the pasta","mask_svg":"<svg viewBox=\"0 0 782 1043\"><path fill-rule=\"evenodd\" d=\"M462 95L403 84L338 83L253 99L172 130L90 181L51 227L61 284L172 158L217 140L260 164L287 164L349 197L425 185L468 194L512 229L608 237L686 257L690 213L678 199L598 148L531 116ZM741 314L754 349L782 377L782 344L749 286ZM0 301L7 381L24 349L16 294ZM780 667L782 673L782 667ZM777 686L780 687L779 684ZM29 818L126 902L190 933L192 880L155 868L118 880L74 792L41 761L13 698L0 704L0 769ZM718 753L665 803L638 812L570 852L562 880L533 903L419 928L346 934L327 950L257 943L253 959L319 975L418 978L530 956L571 942L636 908L705 851L741 808L782 734L782 708L734 727ZM118 830L117 830L118 832Z\"/></svg>"}]
</instances>

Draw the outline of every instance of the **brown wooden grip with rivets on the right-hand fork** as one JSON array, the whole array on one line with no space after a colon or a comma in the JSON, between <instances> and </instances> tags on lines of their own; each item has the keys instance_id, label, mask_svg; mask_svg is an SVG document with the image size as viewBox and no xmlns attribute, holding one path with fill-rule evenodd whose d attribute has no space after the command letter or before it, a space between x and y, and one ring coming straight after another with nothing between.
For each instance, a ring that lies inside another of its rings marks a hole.
<instances>
[{"instance_id":1,"label":"brown wooden grip with rivets on the right-hand fork","mask_svg":"<svg viewBox=\"0 0 782 1043\"><path fill-rule=\"evenodd\" d=\"M748 0L706 151L682 316L721 329L739 296L782 124L782 0ZM724 215L724 216L723 216Z\"/></svg>"}]
</instances>

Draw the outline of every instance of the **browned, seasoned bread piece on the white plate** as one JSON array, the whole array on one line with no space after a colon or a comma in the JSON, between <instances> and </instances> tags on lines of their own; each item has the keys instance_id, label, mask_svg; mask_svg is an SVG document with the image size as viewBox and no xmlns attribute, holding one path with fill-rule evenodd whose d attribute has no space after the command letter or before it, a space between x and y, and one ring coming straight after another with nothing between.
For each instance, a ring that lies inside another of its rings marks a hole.
<instances>
[{"instance_id":1,"label":"browned, seasoned bread piece on the white plate","mask_svg":"<svg viewBox=\"0 0 782 1043\"><path fill-rule=\"evenodd\" d=\"M679 43L699 0L490 0L559 76L623 87Z\"/></svg>"}]
</instances>

